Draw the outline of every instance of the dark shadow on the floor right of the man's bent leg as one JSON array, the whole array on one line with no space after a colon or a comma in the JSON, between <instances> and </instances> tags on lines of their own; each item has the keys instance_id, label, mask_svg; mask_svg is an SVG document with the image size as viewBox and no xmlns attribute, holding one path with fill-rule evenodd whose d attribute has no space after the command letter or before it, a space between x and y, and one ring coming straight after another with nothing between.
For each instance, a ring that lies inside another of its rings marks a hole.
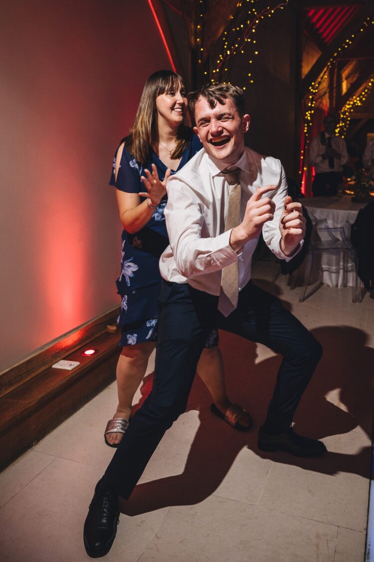
<instances>
[{"instance_id":1,"label":"dark shadow on the floor right of the man's bent leg","mask_svg":"<svg viewBox=\"0 0 374 562\"><path fill-rule=\"evenodd\" d=\"M346 472L368 478L373 424L374 350L366 346L368 336L358 328L325 326L311 332L322 343L324 352L296 411L295 430L316 439L356 432L355 441L367 444L354 454L334 451L334 446L330 447L326 456L316 459L312 464L308 459L280 453L270 456L259 451L258 454L262 458L325 474ZM360 429L369 439L359 435Z\"/></svg>"}]
</instances>

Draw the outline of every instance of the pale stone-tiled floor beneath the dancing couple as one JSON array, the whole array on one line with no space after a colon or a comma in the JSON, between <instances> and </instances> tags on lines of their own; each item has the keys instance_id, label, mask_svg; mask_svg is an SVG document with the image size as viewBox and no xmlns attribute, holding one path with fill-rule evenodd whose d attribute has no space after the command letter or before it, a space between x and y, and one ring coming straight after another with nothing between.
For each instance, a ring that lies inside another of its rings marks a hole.
<instances>
[{"instance_id":1,"label":"pale stone-tiled floor beneath the dancing couple","mask_svg":"<svg viewBox=\"0 0 374 562\"><path fill-rule=\"evenodd\" d=\"M123 504L108 562L362 562L368 501L374 300L322 287L275 284L272 262L254 278L312 330L325 353L296 414L300 433L322 438L323 459L256 447L279 358L221 334L228 391L253 414L236 432L209 412L199 379L188 411L166 433L132 499ZM261 279L261 280L260 280ZM152 365L148 372L152 371ZM150 387L147 377L135 403ZM3 562L88 560L82 527L94 484L113 450L102 430L116 404L111 384L0 475Z\"/></svg>"}]
</instances>

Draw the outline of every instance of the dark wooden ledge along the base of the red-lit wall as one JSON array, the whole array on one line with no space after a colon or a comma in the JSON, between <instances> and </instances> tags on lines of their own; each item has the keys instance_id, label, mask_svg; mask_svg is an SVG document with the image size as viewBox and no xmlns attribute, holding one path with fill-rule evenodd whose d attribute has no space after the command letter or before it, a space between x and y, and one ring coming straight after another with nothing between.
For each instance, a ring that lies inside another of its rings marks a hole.
<instances>
[{"instance_id":1,"label":"dark wooden ledge along the base of the red-lit wall","mask_svg":"<svg viewBox=\"0 0 374 562\"><path fill-rule=\"evenodd\" d=\"M0 374L0 470L115 379L119 333L107 325L117 315L115 309L93 320ZM98 353L82 356L88 345ZM79 366L52 368L61 359Z\"/></svg>"}]
</instances>

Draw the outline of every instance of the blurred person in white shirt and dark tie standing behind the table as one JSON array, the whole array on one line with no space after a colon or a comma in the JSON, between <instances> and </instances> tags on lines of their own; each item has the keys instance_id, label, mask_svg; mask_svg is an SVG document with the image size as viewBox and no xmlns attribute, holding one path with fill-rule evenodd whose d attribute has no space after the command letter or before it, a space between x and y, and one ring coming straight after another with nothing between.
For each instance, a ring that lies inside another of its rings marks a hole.
<instances>
[{"instance_id":1,"label":"blurred person in white shirt and dark tie standing behind the table","mask_svg":"<svg viewBox=\"0 0 374 562\"><path fill-rule=\"evenodd\" d=\"M335 117L326 115L323 126L325 130L312 140L309 149L309 162L316 172L312 184L315 197L337 194L343 166L349 161L345 140L335 134Z\"/></svg>"}]
</instances>

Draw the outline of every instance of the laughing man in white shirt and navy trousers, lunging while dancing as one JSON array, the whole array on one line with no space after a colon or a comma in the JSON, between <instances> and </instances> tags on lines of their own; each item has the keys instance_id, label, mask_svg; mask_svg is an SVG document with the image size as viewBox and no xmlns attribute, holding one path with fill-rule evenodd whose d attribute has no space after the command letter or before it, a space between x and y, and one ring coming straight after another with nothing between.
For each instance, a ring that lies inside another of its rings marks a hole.
<instances>
[{"instance_id":1,"label":"laughing man in white shirt and navy trousers, lunging while dancing","mask_svg":"<svg viewBox=\"0 0 374 562\"><path fill-rule=\"evenodd\" d=\"M283 356L259 430L259 449L304 457L326 452L321 441L291 428L321 358L321 345L278 298L250 279L261 233L281 259L298 252L305 234L301 205L287 196L281 162L245 148L250 117L240 88L202 87L191 94L190 107L204 149L166 185L170 246L160 259L164 282L154 384L96 485L84 524L84 546L95 558L105 555L114 541L119 496L129 498L165 431L186 409L213 326ZM147 189L157 181L156 174L147 173Z\"/></svg>"}]
</instances>

